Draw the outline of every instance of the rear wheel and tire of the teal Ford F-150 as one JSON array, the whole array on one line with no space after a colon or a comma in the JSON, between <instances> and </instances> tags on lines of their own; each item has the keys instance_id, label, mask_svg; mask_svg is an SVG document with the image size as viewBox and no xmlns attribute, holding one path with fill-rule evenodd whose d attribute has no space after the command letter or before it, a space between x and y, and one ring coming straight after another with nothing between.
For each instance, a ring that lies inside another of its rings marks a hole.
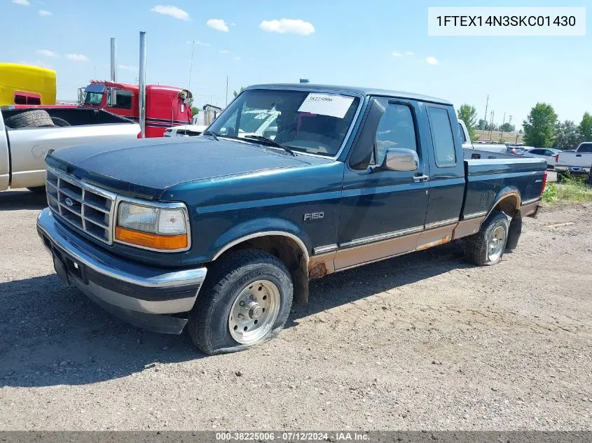
<instances>
[{"instance_id":1,"label":"rear wheel and tire of the teal Ford F-150","mask_svg":"<svg viewBox=\"0 0 592 443\"><path fill-rule=\"evenodd\" d=\"M469 263L477 266L496 265L502 261L508 239L509 223L506 214L495 211L481 225L481 230L467 237L464 250ZM502 238L503 236L503 238ZM492 249L493 238L499 238Z\"/></svg>"}]
</instances>

